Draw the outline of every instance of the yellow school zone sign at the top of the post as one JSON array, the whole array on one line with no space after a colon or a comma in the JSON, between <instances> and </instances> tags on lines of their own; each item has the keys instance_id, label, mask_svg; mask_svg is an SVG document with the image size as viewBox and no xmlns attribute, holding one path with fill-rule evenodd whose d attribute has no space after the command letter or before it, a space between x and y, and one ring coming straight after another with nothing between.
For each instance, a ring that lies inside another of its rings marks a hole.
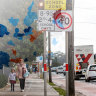
<instances>
[{"instance_id":1,"label":"yellow school zone sign at the top of the post","mask_svg":"<svg viewBox=\"0 0 96 96\"><path fill-rule=\"evenodd\" d=\"M66 0L44 0L44 10L66 10Z\"/></svg>"}]
</instances>

